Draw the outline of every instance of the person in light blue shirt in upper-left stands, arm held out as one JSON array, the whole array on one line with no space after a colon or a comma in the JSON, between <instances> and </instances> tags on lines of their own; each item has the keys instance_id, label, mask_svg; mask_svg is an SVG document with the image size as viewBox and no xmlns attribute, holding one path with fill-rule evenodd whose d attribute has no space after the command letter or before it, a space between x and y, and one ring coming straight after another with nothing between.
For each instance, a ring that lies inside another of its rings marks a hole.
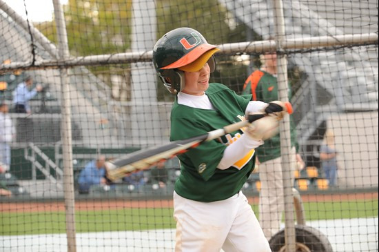
<instances>
[{"instance_id":1,"label":"person in light blue shirt in upper-left stands, arm held out","mask_svg":"<svg viewBox=\"0 0 379 252\"><path fill-rule=\"evenodd\" d=\"M35 88L30 90L33 84L33 79L30 76L25 77L24 81L17 85L14 90L13 104L14 112L16 113L31 113L29 100L32 99L38 92L43 89L41 85L37 84Z\"/></svg>"}]
</instances>

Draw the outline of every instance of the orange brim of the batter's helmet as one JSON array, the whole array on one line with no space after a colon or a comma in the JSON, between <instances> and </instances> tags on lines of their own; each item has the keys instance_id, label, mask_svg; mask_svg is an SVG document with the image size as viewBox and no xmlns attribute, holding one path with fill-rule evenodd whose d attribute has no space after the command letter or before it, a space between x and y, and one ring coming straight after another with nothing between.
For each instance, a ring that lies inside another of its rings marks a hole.
<instances>
[{"instance_id":1,"label":"orange brim of the batter's helmet","mask_svg":"<svg viewBox=\"0 0 379 252\"><path fill-rule=\"evenodd\" d=\"M203 43L201 46L197 46L196 48L194 48L194 50L188 52L186 55L181 57L181 59L178 59L174 63L172 63L168 66L164 66L161 69L174 69L174 68L181 68L183 66L187 66L187 65L191 64L192 62L196 61L196 59L199 59L200 57L202 57L209 50L216 49L214 51L212 50L213 53L211 55L209 55L209 57L211 57L214 54L214 52L219 50L216 47L217 46L210 45L209 43ZM207 60L209 59L209 57L207 58ZM207 62L207 60L205 62ZM205 64L205 62L204 62L204 64ZM203 66L204 66L204 64L203 64ZM196 71L192 71L192 72L196 72Z\"/></svg>"}]
</instances>

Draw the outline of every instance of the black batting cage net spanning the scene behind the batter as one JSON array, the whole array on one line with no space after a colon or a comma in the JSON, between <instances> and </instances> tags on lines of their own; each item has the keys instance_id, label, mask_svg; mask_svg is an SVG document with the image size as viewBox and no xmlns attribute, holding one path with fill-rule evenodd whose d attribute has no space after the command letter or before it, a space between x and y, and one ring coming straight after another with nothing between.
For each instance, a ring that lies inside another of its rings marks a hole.
<instances>
[{"instance_id":1,"label":"black batting cage net spanning the scene behind the batter","mask_svg":"<svg viewBox=\"0 0 379 252\"><path fill-rule=\"evenodd\" d=\"M152 55L181 27L209 83L291 102L241 189L272 251L378 251L376 0L0 0L0 251L175 250L178 157L104 167L170 143Z\"/></svg>"}]
</instances>

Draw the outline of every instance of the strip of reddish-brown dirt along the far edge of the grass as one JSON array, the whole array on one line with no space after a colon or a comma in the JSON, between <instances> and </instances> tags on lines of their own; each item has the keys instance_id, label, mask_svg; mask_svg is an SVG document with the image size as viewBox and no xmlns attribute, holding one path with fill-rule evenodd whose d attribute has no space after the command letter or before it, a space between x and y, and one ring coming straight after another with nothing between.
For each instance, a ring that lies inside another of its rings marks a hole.
<instances>
[{"instance_id":1,"label":"strip of reddish-brown dirt along the far edge of the grass","mask_svg":"<svg viewBox=\"0 0 379 252\"><path fill-rule=\"evenodd\" d=\"M258 204L258 197L248 197L250 204ZM303 202L354 201L378 199L378 192L349 194L301 195ZM75 202L77 211L110 210L125 208L167 208L172 200L81 200ZM57 202L0 202L0 212L50 212L64 211L63 201Z\"/></svg>"}]
</instances>

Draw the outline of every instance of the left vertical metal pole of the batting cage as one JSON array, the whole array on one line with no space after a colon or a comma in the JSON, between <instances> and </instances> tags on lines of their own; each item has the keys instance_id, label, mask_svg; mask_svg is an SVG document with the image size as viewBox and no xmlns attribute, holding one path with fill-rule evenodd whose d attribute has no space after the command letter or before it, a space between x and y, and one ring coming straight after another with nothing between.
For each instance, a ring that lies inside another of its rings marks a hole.
<instances>
[{"instance_id":1,"label":"left vertical metal pole of the batting cage","mask_svg":"<svg viewBox=\"0 0 379 252\"><path fill-rule=\"evenodd\" d=\"M70 57L67 30L59 0L52 0L57 26L59 59ZM72 166L71 102L68 68L60 68L62 92L61 139L63 152L63 193L65 198L65 220L68 252L76 251L74 169Z\"/></svg>"}]
</instances>

